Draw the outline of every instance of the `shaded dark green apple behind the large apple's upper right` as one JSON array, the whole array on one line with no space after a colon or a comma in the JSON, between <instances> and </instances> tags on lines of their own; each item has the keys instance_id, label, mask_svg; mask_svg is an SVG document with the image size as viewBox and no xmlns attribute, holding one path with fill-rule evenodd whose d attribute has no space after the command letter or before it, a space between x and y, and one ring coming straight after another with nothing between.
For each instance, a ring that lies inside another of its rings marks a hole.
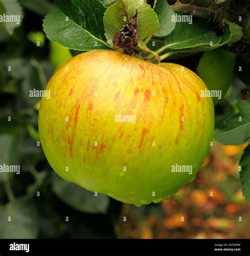
<instances>
[{"instance_id":1,"label":"shaded dark green apple behind the large apple's upper right","mask_svg":"<svg viewBox=\"0 0 250 256\"><path fill-rule=\"evenodd\" d=\"M236 55L224 49L204 52L199 61L197 72L209 90L220 90L221 97L226 94L231 85ZM221 98L220 98L221 99ZM216 105L218 97L213 97Z\"/></svg>"}]
</instances>

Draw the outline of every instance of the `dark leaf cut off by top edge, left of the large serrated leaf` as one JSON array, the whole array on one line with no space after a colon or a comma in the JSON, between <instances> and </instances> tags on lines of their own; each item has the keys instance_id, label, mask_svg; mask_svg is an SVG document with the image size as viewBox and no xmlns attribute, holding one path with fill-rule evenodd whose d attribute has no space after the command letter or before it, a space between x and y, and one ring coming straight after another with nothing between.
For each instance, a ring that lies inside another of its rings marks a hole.
<instances>
[{"instance_id":1,"label":"dark leaf cut off by top edge, left of the large serrated leaf","mask_svg":"<svg viewBox=\"0 0 250 256\"><path fill-rule=\"evenodd\" d=\"M18 0L20 4L28 10L45 16L53 7L52 3L47 0Z\"/></svg>"}]
</instances>

